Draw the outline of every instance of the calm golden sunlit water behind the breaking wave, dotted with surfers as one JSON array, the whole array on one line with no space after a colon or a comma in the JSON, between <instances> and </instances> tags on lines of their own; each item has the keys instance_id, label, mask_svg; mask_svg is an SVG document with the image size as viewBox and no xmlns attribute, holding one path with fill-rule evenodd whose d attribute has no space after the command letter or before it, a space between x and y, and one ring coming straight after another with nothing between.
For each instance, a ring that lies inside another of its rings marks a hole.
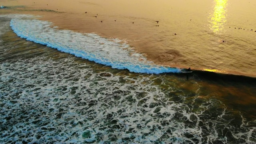
<instances>
[{"instance_id":1,"label":"calm golden sunlit water behind the breaking wave, dotted with surfers","mask_svg":"<svg viewBox=\"0 0 256 144\"><path fill-rule=\"evenodd\" d=\"M4 4L10 8L3 12L39 14L61 29L126 40L156 64L256 77L253 1L4 0Z\"/></svg>"}]
</instances>

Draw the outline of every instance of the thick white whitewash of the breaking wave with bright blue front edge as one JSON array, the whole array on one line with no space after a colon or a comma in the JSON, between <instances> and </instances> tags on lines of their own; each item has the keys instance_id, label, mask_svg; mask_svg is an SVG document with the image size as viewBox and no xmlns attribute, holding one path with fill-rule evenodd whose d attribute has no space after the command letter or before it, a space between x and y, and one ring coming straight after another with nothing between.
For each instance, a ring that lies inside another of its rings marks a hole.
<instances>
[{"instance_id":1,"label":"thick white whitewash of the breaking wave with bright blue front edge","mask_svg":"<svg viewBox=\"0 0 256 144\"><path fill-rule=\"evenodd\" d=\"M97 34L58 30L51 28L51 24L47 21L18 18L10 21L12 30L21 38L112 68L147 74L181 72L179 68L153 64L122 40L102 38Z\"/></svg>"}]
</instances>

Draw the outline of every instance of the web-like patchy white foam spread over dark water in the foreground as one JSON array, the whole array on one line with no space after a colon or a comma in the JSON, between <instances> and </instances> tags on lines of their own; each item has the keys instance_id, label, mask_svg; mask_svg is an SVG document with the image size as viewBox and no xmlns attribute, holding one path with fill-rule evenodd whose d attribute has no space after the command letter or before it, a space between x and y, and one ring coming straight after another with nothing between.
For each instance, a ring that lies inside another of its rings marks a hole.
<instances>
[{"instance_id":1,"label":"web-like patchy white foam spread over dark water in the foreground","mask_svg":"<svg viewBox=\"0 0 256 144\"><path fill-rule=\"evenodd\" d=\"M196 144L225 142L225 132L253 141L255 127L245 120L232 126L223 118L230 112L216 111L216 100L202 100L197 110L166 99L178 88L163 92L152 84L154 75L133 78L89 67L71 57L2 62L0 122L8 129L1 127L0 142Z\"/></svg>"}]
</instances>

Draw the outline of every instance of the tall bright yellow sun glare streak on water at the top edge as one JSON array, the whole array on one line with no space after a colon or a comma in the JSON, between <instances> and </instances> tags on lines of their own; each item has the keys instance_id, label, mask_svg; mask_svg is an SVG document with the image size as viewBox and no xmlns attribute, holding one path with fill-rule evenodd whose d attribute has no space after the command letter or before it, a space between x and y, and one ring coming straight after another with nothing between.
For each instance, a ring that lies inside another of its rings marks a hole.
<instances>
[{"instance_id":1,"label":"tall bright yellow sun glare streak on water at the top edge","mask_svg":"<svg viewBox=\"0 0 256 144\"><path fill-rule=\"evenodd\" d=\"M214 0L214 12L211 14L210 23L211 30L215 33L223 29L223 24L226 22L226 5L228 0Z\"/></svg>"}]
</instances>

